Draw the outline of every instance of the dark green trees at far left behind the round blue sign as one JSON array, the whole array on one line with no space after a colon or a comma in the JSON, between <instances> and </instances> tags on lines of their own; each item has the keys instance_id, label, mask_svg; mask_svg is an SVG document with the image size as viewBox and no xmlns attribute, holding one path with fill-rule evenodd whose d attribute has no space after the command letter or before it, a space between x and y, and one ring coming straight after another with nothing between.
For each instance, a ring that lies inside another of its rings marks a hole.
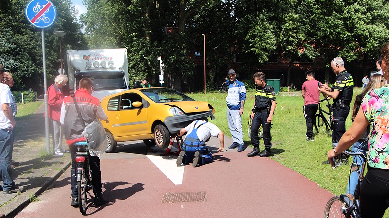
<instances>
[{"instance_id":1,"label":"dark green trees at far left behind the round blue sign","mask_svg":"<svg viewBox=\"0 0 389 218\"><path fill-rule=\"evenodd\" d=\"M46 71L48 81L58 73L59 44L58 38L53 35L54 30L67 33L63 38L63 50L83 48L85 41L81 33L81 26L75 22L75 9L71 0L53 0L57 8L57 20L53 26L45 29ZM25 7L28 0L2 0L0 4L1 37L10 46L0 47L3 59L7 58L19 63L13 65L5 63L5 67L14 77L16 89L33 88L42 93L43 88L43 57L41 30L32 26L25 17ZM48 82L48 83L50 83Z\"/></svg>"}]
</instances>

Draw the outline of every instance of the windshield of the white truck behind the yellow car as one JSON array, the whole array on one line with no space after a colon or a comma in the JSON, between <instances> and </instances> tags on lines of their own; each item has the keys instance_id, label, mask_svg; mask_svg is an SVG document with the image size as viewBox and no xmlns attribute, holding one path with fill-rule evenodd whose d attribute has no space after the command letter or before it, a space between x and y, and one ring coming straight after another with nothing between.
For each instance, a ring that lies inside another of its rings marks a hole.
<instances>
[{"instance_id":1,"label":"windshield of the white truck behind the yellow car","mask_svg":"<svg viewBox=\"0 0 389 218\"><path fill-rule=\"evenodd\" d=\"M94 91L128 88L125 83L124 73L120 71L80 73L76 76L76 89L78 89L78 82L84 77L88 77L93 81Z\"/></svg>"}]
</instances>

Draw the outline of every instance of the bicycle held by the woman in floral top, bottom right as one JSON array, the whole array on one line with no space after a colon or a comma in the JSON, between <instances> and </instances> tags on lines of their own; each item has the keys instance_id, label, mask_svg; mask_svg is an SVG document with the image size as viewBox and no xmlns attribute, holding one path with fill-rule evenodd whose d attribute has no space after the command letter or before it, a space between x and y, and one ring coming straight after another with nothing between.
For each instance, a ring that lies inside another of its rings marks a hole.
<instances>
[{"instance_id":1,"label":"bicycle held by the woman in floral top, bottom right","mask_svg":"<svg viewBox=\"0 0 389 218\"><path fill-rule=\"evenodd\" d=\"M359 152L349 152L349 151L343 151L343 153L350 155L350 156L361 156L363 159L363 165L362 170L359 173L359 165L352 164L350 166L350 174L353 167L358 168L358 184L355 188L354 193L354 199L350 200L349 197L345 194L342 195L336 195L330 198L328 200L327 205L325 206L324 211L324 218L358 218L358 215L360 214L360 188L362 184L362 180L364 178L365 168L366 168L366 152L365 151L359 151ZM359 158L359 157L357 157Z\"/></svg>"}]
</instances>

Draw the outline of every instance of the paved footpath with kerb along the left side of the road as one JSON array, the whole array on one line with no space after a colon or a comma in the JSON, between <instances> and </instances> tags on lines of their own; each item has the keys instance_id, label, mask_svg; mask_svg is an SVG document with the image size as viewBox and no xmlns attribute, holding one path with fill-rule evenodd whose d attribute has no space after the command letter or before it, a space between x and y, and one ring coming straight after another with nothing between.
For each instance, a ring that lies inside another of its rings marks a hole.
<instances>
[{"instance_id":1,"label":"paved footpath with kerb along the left side of the road","mask_svg":"<svg viewBox=\"0 0 389 218\"><path fill-rule=\"evenodd\" d=\"M12 160L18 162L18 165L12 171L12 178L17 185L23 186L26 191L8 195L0 192L0 218L16 215L30 203L30 197L42 193L70 164L70 155L64 157L45 155L45 118L43 112L44 104L28 119L16 117L17 125ZM51 138L50 146L52 147ZM2 181L1 177L0 180Z\"/></svg>"}]
</instances>

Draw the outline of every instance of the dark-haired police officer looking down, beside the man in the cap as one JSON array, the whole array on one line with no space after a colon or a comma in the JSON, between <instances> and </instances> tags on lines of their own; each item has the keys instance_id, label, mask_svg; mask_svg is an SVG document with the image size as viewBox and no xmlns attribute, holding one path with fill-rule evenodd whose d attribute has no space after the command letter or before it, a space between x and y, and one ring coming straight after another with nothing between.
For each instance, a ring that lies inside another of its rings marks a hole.
<instances>
[{"instance_id":1,"label":"dark-haired police officer looking down, beside the man in the cap","mask_svg":"<svg viewBox=\"0 0 389 218\"><path fill-rule=\"evenodd\" d=\"M268 157L271 154L270 128L274 110L276 109L276 94L274 88L266 84L265 74L263 72L254 73L253 78L256 85L256 92L254 107L251 111L251 144L254 146L254 149L247 156L253 157L259 153L258 129L262 124L265 150L259 156Z\"/></svg>"}]
</instances>

